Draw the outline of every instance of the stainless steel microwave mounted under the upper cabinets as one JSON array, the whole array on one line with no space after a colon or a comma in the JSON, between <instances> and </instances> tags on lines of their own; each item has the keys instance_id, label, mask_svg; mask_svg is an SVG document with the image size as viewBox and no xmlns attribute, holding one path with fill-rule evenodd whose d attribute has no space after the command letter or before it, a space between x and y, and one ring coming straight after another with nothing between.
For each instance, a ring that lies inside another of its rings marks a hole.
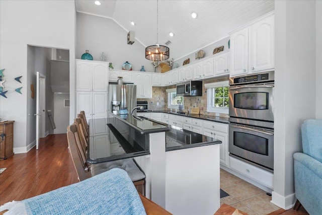
<instances>
[{"instance_id":1,"label":"stainless steel microwave mounted under the upper cabinets","mask_svg":"<svg viewBox=\"0 0 322 215\"><path fill-rule=\"evenodd\" d=\"M178 83L177 96L202 96L202 81Z\"/></svg>"}]
</instances>

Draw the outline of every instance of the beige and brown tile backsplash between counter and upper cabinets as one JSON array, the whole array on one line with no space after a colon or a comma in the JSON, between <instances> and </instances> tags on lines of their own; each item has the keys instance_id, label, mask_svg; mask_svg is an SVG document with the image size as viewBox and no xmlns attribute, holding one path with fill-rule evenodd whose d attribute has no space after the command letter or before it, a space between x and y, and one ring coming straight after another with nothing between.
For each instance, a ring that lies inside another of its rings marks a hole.
<instances>
[{"instance_id":1,"label":"beige and brown tile backsplash between counter and upper cabinets","mask_svg":"<svg viewBox=\"0 0 322 215\"><path fill-rule=\"evenodd\" d=\"M187 112L188 109L200 108L200 114L215 116L216 113L207 112L207 90L204 84L228 81L229 77L209 79L202 82L202 96L186 96L184 97L184 111ZM166 89L176 88L176 85L171 85L167 87L152 87L152 98L151 99L137 99L137 101L147 101L148 109L152 110L166 110L168 109L168 97ZM159 105L157 105L157 102ZM175 111L175 109L173 109ZM228 114L219 114L221 117L229 117Z\"/></svg>"}]
</instances>

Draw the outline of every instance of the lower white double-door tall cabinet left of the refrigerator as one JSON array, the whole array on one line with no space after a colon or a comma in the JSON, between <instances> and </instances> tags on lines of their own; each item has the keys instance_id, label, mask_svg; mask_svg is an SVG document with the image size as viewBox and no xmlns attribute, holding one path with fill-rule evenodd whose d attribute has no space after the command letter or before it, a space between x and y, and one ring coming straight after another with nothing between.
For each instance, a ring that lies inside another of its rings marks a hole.
<instances>
[{"instance_id":1,"label":"lower white double-door tall cabinet left of the refrigerator","mask_svg":"<svg viewBox=\"0 0 322 215\"><path fill-rule=\"evenodd\" d=\"M86 118L107 117L106 92L76 92L76 113L85 111Z\"/></svg>"}]
</instances>

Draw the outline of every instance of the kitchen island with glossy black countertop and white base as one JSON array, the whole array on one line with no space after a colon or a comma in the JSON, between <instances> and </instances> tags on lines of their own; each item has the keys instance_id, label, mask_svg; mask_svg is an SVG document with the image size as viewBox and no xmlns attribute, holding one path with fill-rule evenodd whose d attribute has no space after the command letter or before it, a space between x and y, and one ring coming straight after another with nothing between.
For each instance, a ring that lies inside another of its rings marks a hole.
<instances>
[{"instance_id":1,"label":"kitchen island with glossy black countertop and white base","mask_svg":"<svg viewBox=\"0 0 322 215\"><path fill-rule=\"evenodd\" d=\"M132 157L146 175L152 201L174 214L213 214L220 205L220 143L176 126L109 113L90 121L88 161Z\"/></svg>"}]
</instances>

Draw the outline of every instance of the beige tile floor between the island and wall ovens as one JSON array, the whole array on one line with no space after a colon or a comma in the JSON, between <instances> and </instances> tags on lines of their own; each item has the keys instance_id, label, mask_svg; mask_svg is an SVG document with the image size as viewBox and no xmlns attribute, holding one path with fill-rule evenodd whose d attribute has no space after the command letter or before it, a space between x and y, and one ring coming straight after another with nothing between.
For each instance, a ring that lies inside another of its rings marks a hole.
<instances>
[{"instance_id":1,"label":"beige tile floor between the island and wall ovens","mask_svg":"<svg viewBox=\"0 0 322 215\"><path fill-rule=\"evenodd\" d=\"M220 169L220 188L229 194L220 199L225 203L249 215L266 215L280 207L271 203L272 197L266 192L222 169Z\"/></svg>"}]
</instances>

